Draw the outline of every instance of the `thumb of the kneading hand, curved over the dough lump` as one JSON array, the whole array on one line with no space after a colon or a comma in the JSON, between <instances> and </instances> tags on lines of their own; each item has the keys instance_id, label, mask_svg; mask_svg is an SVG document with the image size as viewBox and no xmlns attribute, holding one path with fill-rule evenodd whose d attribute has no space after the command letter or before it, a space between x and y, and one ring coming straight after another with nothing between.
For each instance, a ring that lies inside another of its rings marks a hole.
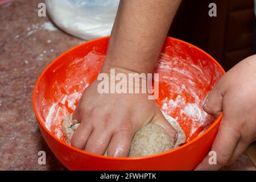
<instances>
[{"instance_id":1,"label":"thumb of the kneading hand, curved over the dough lump","mask_svg":"<svg viewBox=\"0 0 256 182\"><path fill-rule=\"evenodd\" d=\"M164 115L162 111L159 111L158 114L156 114L156 117L154 119L155 123L158 123L160 126L166 130L167 134L173 139L174 143L176 143L177 140L177 131L172 127L172 125L164 118Z\"/></svg>"}]
</instances>

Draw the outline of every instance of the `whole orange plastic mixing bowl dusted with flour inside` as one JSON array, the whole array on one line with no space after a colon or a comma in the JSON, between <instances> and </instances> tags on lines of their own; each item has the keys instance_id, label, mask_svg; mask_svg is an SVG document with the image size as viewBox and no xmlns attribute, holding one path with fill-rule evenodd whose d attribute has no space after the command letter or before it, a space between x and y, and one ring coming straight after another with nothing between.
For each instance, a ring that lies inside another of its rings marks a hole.
<instances>
[{"instance_id":1,"label":"whole orange plastic mixing bowl dusted with flour inside","mask_svg":"<svg viewBox=\"0 0 256 182\"><path fill-rule=\"evenodd\" d=\"M216 137L220 117L200 126L195 118L187 117L177 98L201 105L214 84L224 75L224 69L213 57L201 49L167 38L155 72L159 73L159 98L176 102L177 107L165 107L165 112L176 117L183 128L187 143L162 154L142 158L113 158L79 150L65 143L61 133L64 115L72 113L83 90L98 75L104 61L109 38L100 38L81 44L57 57L36 82L33 105L40 131L53 154L72 170L191 170L207 155ZM194 97L192 92L195 91ZM67 99L68 96L68 99ZM201 108L201 106L200 106ZM53 117L54 115L54 117ZM52 120L52 125L49 121ZM194 124L193 124L194 123ZM195 123L196 125L195 127ZM195 130L196 129L196 130ZM203 130L206 129L204 132ZM51 130L51 131L49 131ZM192 131L193 130L193 131ZM203 133L199 135L199 133Z\"/></svg>"}]
</instances>

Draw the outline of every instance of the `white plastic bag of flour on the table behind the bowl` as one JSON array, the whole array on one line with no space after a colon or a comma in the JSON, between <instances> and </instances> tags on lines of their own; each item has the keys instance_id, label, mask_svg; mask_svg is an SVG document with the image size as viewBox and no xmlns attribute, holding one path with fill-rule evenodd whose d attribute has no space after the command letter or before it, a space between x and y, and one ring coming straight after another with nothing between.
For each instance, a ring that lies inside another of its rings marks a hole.
<instances>
[{"instance_id":1,"label":"white plastic bag of flour on the table behind the bowl","mask_svg":"<svg viewBox=\"0 0 256 182\"><path fill-rule=\"evenodd\" d=\"M119 0L46 0L56 26L85 40L110 35L118 5Z\"/></svg>"}]
</instances>

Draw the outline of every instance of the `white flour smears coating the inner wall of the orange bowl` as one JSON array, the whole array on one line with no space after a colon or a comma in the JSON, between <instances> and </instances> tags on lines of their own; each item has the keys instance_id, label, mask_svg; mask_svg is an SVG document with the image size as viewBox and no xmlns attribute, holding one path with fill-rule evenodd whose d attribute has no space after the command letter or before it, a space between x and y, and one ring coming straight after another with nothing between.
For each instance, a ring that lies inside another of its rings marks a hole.
<instances>
[{"instance_id":1,"label":"white flour smears coating the inner wall of the orange bowl","mask_svg":"<svg viewBox=\"0 0 256 182\"><path fill-rule=\"evenodd\" d=\"M172 56L162 53L154 72L159 73L160 97L156 103L164 117L178 130L177 143L181 144L204 133L214 121L213 117L205 113L202 105L222 72L216 64L208 65L207 60L192 59L179 46L178 43L165 48L164 51L171 52ZM49 104L45 118L47 129L57 138L65 140L61 123L66 115L75 110L84 89L92 82L91 75L98 74L104 59L105 55L97 51L89 52L65 67L67 78L64 82L53 83L52 86L59 89L59 93L56 93L58 99ZM76 64L79 65L79 71L74 71ZM63 89L65 92L61 91Z\"/></svg>"}]
</instances>

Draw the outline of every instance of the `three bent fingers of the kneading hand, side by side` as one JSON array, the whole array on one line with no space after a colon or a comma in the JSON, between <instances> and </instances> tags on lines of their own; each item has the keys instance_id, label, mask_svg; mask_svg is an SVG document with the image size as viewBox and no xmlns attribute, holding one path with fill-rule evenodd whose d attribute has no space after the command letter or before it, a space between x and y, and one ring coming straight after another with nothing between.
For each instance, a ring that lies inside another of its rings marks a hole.
<instances>
[{"instance_id":1,"label":"three bent fingers of the kneading hand, side by side","mask_svg":"<svg viewBox=\"0 0 256 182\"><path fill-rule=\"evenodd\" d=\"M78 110L74 111L73 118L81 121ZM87 117L86 121L81 122L71 139L72 146L99 155L103 155L108 148L108 156L128 156L133 134L129 131L118 131L113 134L112 130L105 127L104 121L97 122L97 119L98 117ZM86 124L92 122L101 125L92 127Z\"/></svg>"}]
</instances>

